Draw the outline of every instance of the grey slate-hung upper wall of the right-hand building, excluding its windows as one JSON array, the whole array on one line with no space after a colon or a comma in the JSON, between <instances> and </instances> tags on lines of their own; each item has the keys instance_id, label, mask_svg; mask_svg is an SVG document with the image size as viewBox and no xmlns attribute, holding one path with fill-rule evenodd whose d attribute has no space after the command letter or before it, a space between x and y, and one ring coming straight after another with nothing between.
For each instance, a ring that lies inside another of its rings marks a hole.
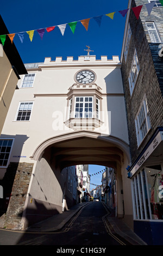
<instances>
[{"instance_id":1,"label":"grey slate-hung upper wall of the right-hand building, excluding its windows","mask_svg":"<svg viewBox=\"0 0 163 256\"><path fill-rule=\"evenodd\" d=\"M151 138L154 131L156 130L156 127L163 125L163 100L161 95L163 81L163 58L160 58L158 56L160 44L152 44L151 40L149 40L149 34L145 23L145 20L157 21L156 26L158 27L158 29L161 27L160 33L162 33L163 16L161 18L161 15L163 14L163 8L153 8L153 15L148 16L145 3L146 1L132 1L131 3L131 8L142 4L143 7L139 20L136 19L133 11L130 11L129 25L131 29L131 38L127 59L125 60L123 56L122 60L122 79L126 98L130 153L132 163L141 153L149 138ZM130 94L128 77L130 74L135 49L137 52L137 58L139 60L140 71L139 75L137 76L133 93ZM139 147L137 147L135 118L140 111L140 107L142 105L145 95L149 109L151 130L148 131L146 137L143 139Z\"/></svg>"}]
</instances>

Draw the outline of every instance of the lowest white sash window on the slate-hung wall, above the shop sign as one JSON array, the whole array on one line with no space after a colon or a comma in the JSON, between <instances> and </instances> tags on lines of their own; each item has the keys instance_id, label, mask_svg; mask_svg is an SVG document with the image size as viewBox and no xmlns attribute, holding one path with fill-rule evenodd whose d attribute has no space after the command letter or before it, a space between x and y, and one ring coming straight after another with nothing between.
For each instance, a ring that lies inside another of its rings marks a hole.
<instances>
[{"instance_id":1,"label":"lowest white sash window on the slate-hung wall, above the shop sign","mask_svg":"<svg viewBox=\"0 0 163 256\"><path fill-rule=\"evenodd\" d=\"M151 129L147 99L142 102L139 112L135 118L137 145L140 146L148 131Z\"/></svg>"}]
</instances>

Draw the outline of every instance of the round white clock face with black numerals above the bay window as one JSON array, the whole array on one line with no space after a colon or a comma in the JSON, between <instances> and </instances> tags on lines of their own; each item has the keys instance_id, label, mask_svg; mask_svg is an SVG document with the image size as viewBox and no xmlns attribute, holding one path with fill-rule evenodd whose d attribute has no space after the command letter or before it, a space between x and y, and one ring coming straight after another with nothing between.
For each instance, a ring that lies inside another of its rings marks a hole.
<instances>
[{"instance_id":1,"label":"round white clock face with black numerals above the bay window","mask_svg":"<svg viewBox=\"0 0 163 256\"><path fill-rule=\"evenodd\" d=\"M77 73L76 80L82 84L92 83L95 80L95 74L90 70L82 70Z\"/></svg>"}]
</instances>

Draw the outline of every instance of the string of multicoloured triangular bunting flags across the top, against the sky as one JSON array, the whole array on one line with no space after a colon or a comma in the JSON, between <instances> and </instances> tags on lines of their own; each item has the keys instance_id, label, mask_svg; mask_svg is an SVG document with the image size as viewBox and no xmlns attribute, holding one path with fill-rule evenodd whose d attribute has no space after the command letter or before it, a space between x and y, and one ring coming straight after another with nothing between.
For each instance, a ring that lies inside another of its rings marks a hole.
<instances>
[{"instance_id":1,"label":"string of multicoloured triangular bunting flags across the top, against the sky","mask_svg":"<svg viewBox=\"0 0 163 256\"><path fill-rule=\"evenodd\" d=\"M161 5L163 6L163 0L160 0L159 2L160 2ZM148 11L148 15L151 14L151 11L152 11L152 9L153 9L153 7L154 7L154 4L155 4L155 1L152 1L151 3L145 4L146 9L147 9L147 11ZM137 7L131 8L131 9L133 10L133 12L134 12L135 17L136 17L137 20L139 19L139 16L140 16L142 7L143 7L143 5L139 5L139 6L137 6ZM95 21L97 22L98 26L100 27L100 26L101 26L101 22L102 22L102 17L103 17L103 16L108 16L111 20L113 20L115 13L120 13L120 14L122 15L122 17L125 17L126 14L128 13L128 10L130 10L130 9L124 9L124 10L120 10L120 11L114 11L113 13L104 14L104 15L101 15L101 16L95 16L95 17L91 17L91 18L89 18L89 19L84 19L84 20L69 22L69 23L65 23L65 24L62 24L62 25L56 25L56 26L47 27L47 28L33 29L33 30L31 30L31 31L17 32L17 33L12 33L12 34L4 34L4 35L0 35L0 39L1 39L1 42L2 42L2 45L3 45L3 46L4 46L4 43L5 43L5 40L6 40L7 36L10 38L11 44L12 44L14 38L15 38L15 35L17 35L18 38L20 38L20 41L23 42L23 40L24 40L24 34L27 33L27 34L29 35L30 41L32 42L33 36L34 36L34 32L35 32L35 31L37 31L37 33L39 33L41 39L43 38L43 35L44 35L45 31L47 31L48 33L49 33L49 32L52 32L52 31L54 31L54 28L55 28L55 27L58 27L58 28L60 29L61 34L64 35L65 29L66 29L66 25L70 26L71 31L72 31L72 33L74 34L78 22L81 22L82 25L85 27L85 29L86 29L86 31L87 31L87 30L88 30L88 27L89 27L90 19L95 20Z\"/></svg>"}]
</instances>

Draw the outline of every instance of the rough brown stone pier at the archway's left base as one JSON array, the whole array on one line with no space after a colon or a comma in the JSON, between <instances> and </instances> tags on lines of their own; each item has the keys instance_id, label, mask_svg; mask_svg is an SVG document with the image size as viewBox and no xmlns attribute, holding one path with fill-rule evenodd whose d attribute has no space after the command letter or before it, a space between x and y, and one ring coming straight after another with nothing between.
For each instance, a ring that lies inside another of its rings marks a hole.
<instances>
[{"instance_id":1,"label":"rough brown stone pier at the archway's left base","mask_svg":"<svg viewBox=\"0 0 163 256\"><path fill-rule=\"evenodd\" d=\"M7 212L1 217L3 219L0 222L1 228L21 229L21 219L32 170L33 163L11 162L9 164L3 184L5 184L4 190L8 192L11 190L11 197ZM13 185L11 180L14 181ZM10 186L7 185L8 182Z\"/></svg>"}]
</instances>

